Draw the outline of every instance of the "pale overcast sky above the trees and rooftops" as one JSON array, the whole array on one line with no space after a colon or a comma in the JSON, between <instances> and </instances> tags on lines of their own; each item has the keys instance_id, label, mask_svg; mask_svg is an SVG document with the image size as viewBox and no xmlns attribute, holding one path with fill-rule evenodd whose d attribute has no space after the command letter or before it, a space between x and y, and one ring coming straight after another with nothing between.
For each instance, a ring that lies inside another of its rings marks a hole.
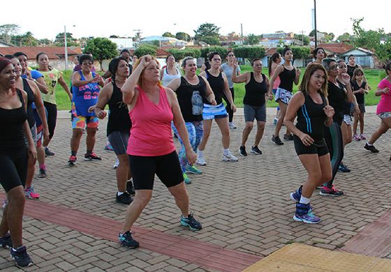
<instances>
[{"instance_id":1,"label":"pale overcast sky above the trees and rooftops","mask_svg":"<svg viewBox=\"0 0 391 272\"><path fill-rule=\"evenodd\" d=\"M313 0L7 0L1 2L0 25L18 24L20 33L31 31L36 38L51 40L64 31L64 25L75 38L135 36L134 29L141 29L141 36L147 37L165 31L193 36L193 30L205 22L216 24L223 35L240 33L240 24L244 35L280 30L308 35L312 8ZM317 27L337 37L353 33L351 17L364 17L364 29L383 28L388 33L390 8L389 1L381 0L317 0Z\"/></svg>"}]
</instances>

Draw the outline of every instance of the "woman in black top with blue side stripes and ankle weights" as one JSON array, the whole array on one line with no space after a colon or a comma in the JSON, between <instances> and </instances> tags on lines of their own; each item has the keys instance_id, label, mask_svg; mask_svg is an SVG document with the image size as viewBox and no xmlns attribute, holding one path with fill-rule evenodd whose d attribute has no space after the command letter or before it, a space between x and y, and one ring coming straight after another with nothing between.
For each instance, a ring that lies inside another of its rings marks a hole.
<instances>
[{"instance_id":1,"label":"woman in black top with blue side stripes and ankle weights","mask_svg":"<svg viewBox=\"0 0 391 272\"><path fill-rule=\"evenodd\" d=\"M307 181L290 198L296 202L293 219L305 223L318 223L313 215L309 199L316 186L332 177L330 154L325 144L324 125L332 124L334 109L328 105L327 73L320 64L312 64L304 73L299 90L289 103L284 119L285 126L292 131L296 153L305 169ZM297 124L293 124L297 115Z\"/></svg>"}]
</instances>

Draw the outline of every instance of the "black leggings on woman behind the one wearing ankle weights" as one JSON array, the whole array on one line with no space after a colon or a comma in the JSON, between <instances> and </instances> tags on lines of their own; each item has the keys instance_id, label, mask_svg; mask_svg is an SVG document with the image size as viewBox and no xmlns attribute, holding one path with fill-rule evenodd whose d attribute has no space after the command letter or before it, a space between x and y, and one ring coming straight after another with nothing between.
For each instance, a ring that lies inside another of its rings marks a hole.
<instances>
[{"instance_id":1,"label":"black leggings on woman behind the one wearing ankle weights","mask_svg":"<svg viewBox=\"0 0 391 272\"><path fill-rule=\"evenodd\" d=\"M330 127L325 127L325 140L330 152L332 167L332 179L325 183L325 186L331 188L338 167L344 158L344 142L342 140L341 124L333 122Z\"/></svg>"}]
</instances>

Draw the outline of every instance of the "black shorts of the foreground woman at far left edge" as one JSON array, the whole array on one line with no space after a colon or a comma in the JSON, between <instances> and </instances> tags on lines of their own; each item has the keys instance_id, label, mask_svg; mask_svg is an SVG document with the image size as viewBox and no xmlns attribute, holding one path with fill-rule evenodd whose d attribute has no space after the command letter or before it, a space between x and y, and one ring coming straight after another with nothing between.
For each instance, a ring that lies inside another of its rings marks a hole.
<instances>
[{"instance_id":1,"label":"black shorts of the foreground woman at far left edge","mask_svg":"<svg viewBox=\"0 0 391 272\"><path fill-rule=\"evenodd\" d=\"M26 184L27 152L22 156L0 155L0 183L6 192Z\"/></svg>"}]
</instances>

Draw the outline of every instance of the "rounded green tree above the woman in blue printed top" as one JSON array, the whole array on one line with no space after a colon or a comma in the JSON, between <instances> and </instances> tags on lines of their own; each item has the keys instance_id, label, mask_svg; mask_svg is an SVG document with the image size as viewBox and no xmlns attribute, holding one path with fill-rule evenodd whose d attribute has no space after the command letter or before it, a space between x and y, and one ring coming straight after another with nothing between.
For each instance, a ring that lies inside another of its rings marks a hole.
<instances>
[{"instance_id":1,"label":"rounded green tree above the woman in blue printed top","mask_svg":"<svg viewBox=\"0 0 391 272\"><path fill-rule=\"evenodd\" d=\"M118 56L117 45L108 38L93 38L87 41L84 52L90 52L94 59L99 61L101 69L103 60Z\"/></svg>"}]
</instances>

